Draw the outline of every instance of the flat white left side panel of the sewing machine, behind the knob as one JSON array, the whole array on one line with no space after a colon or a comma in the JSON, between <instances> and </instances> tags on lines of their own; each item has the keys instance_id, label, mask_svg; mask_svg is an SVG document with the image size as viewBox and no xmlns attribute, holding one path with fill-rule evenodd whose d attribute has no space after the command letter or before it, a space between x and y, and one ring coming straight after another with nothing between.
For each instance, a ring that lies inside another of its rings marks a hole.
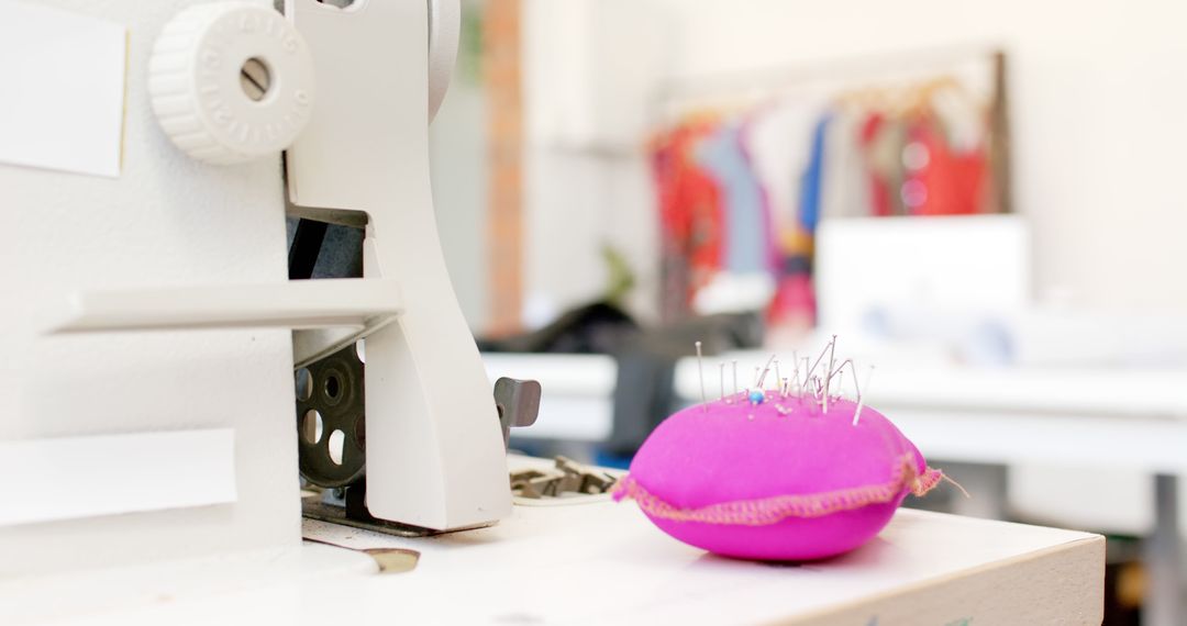
<instances>
[{"instance_id":1,"label":"flat white left side panel of the sewing machine, behind the knob","mask_svg":"<svg viewBox=\"0 0 1187 626\"><path fill-rule=\"evenodd\" d=\"M42 336L80 288L286 280L279 155L201 165L157 126L148 52L193 1L46 4L128 27L123 171L107 179L0 165L0 440L230 427L239 502L2 528L0 576L296 545L287 331ZM0 506L20 506L42 478L4 477Z\"/></svg>"}]
</instances>

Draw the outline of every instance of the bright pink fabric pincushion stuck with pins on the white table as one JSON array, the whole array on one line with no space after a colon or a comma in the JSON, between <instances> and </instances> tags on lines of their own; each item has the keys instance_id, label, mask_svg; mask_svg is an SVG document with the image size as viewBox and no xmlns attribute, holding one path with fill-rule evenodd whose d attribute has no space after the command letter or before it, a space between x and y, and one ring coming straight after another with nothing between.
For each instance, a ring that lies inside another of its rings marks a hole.
<instances>
[{"instance_id":1,"label":"bright pink fabric pincushion stuck with pins on the white table","mask_svg":"<svg viewBox=\"0 0 1187 626\"><path fill-rule=\"evenodd\" d=\"M882 414L768 391L688 407L643 442L615 498L711 552L807 561L862 545L941 474Z\"/></svg>"}]
</instances>

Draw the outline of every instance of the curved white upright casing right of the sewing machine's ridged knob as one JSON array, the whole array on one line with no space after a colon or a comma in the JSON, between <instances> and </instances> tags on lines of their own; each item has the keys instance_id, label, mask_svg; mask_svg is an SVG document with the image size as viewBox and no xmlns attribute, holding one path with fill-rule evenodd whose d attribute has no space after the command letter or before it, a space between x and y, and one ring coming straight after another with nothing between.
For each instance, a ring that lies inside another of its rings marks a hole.
<instances>
[{"instance_id":1,"label":"curved white upright casing right of the sewing machine's ridged knob","mask_svg":"<svg viewBox=\"0 0 1187 626\"><path fill-rule=\"evenodd\" d=\"M287 0L319 98L287 153L294 205L366 211L364 276L400 318L367 338L367 506L432 529L510 512L502 433L445 268L429 179L429 7ZM357 71L351 71L353 69Z\"/></svg>"}]
</instances>

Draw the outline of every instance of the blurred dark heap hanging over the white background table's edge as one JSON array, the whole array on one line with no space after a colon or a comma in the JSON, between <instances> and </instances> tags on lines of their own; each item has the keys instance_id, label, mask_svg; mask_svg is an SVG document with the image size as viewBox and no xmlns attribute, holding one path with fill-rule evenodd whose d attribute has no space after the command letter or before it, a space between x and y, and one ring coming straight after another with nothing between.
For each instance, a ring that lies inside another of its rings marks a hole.
<instances>
[{"instance_id":1,"label":"blurred dark heap hanging over the white background table's edge","mask_svg":"<svg viewBox=\"0 0 1187 626\"><path fill-rule=\"evenodd\" d=\"M702 341L704 353L762 345L758 313L692 318L656 327L643 327L618 306L598 301L573 308L538 331L478 339L484 352L546 352L610 354L618 363L614 391L614 432L605 452L630 455L665 417L675 411L675 363L693 353ZM545 389L545 394L547 394Z\"/></svg>"}]
</instances>

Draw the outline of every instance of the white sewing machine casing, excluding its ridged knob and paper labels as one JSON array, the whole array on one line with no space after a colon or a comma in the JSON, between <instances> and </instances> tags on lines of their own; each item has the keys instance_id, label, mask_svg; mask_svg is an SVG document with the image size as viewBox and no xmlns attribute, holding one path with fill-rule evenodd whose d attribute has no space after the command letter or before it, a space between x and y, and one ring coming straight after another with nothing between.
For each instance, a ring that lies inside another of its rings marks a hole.
<instances>
[{"instance_id":1,"label":"white sewing machine casing, excluding its ridged knob and paper labels","mask_svg":"<svg viewBox=\"0 0 1187 626\"><path fill-rule=\"evenodd\" d=\"M366 440L354 445L368 453L370 515L445 531L509 513L503 416L449 281L430 193L426 122L442 71L430 32L452 20L456 36L456 2L450 12L424 0L287 0L285 19L317 79L285 161L287 202L279 153L208 165L154 120L153 39L173 14L207 4L84 4L129 30L119 178L0 168L0 204L17 209L0 219L21 242L11 263L28 268L12 287L26 296L0 311L14 336L0 391L18 398L0 449L51 449L63 437L85 447L91 435L134 447L137 434L157 432L174 432L184 447L185 433L218 430L234 441L217 461L230 492L118 516L0 518L0 574L294 544L293 371L362 338ZM286 205L364 222L364 277L286 281ZM153 467L110 459L104 471L133 492L161 488ZM52 499L77 483L71 472L85 468L11 478Z\"/></svg>"}]
</instances>

